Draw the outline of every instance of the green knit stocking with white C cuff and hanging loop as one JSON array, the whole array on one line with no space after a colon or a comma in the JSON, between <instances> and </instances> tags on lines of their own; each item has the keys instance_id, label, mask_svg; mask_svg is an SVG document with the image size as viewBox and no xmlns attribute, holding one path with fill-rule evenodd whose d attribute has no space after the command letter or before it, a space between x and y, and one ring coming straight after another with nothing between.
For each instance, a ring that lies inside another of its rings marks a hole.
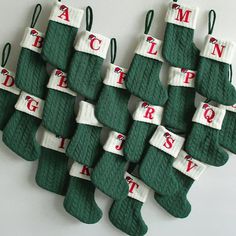
<instances>
[{"instance_id":1,"label":"green knit stocking with white C cuff and hanging loop","mask_svg":"<svg viewBox=\"0 0 236 236\"><path fill-rule=\"evenodd\" d=\"M100 72L107 55L110 39L90 32L93 22L92 16L92 9L87 7L87 27L75 45L75 52L68 71L68 85L73 91L94 101L102 86Z\"/></svg>"}]
</instances>

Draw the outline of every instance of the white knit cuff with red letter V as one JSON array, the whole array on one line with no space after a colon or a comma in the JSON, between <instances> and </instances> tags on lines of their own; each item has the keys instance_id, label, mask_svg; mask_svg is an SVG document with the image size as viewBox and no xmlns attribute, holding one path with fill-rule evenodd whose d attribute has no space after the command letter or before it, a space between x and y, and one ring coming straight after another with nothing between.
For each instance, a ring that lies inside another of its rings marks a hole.
<instances>
[{"instance_id":1,"label":"white knit cuff with red letter V","mask_svg":"<svg viewBox=\"0 0 236 236\"><path fill-rule=\"evenodd\" d=\"M199 179L207 168L205 164L193 159L183 150L180 151L178 157L174 160L173 167L194 180Z\"/></svg>"}]
</instances>

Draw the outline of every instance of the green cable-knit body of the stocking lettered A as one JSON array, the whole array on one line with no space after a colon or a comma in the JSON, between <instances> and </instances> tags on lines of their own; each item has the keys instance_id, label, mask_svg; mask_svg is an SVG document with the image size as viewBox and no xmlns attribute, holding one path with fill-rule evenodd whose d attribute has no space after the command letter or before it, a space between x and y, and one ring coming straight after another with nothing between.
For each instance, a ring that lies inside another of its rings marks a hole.
<instances>
[{"instance_id":1,"label":"green cable-knit body of the stocking lettered A","mask_svg":"<svg viewBox=\"0 0 236 236\"><path fill-rule=\"evenodd\" d=\"M75 27L50 20L42 48L43 59L55 68L67 71L77 32Z\"/></svg>"}]
</instances>

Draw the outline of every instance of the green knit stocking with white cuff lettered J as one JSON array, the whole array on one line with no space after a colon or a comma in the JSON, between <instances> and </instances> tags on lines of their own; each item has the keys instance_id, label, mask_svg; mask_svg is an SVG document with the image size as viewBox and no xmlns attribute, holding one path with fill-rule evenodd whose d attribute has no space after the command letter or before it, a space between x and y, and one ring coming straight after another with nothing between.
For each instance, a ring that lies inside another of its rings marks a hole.
<instances>
[{"instance_id":1,"label":"green knit stocking with white cuff lettered J","mask_svg":"<svg viewBox=\"0 0 236 236\"><path fill-rule=\"evenodd\" d=\"M94 185L114 200L126 198L129 190L124 178L126 170L126 160L123 157L124 140L123 134L110 132L103 146L104 153L91 176Z\"/></svg>"}]
</instances>

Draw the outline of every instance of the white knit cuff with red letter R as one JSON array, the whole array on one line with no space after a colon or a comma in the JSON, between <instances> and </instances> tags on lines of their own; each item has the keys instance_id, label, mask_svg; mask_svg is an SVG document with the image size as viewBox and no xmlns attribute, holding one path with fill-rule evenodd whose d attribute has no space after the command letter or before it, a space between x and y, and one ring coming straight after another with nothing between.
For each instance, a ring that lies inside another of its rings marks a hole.
<instances>
[{"instance_id":1,"label":"white knit cuff with red letter R","mask_svg":"<svg viewBox=\"0 0 236 236\"><path fill-rule=\"evenodd\" d=\"M163 117L163 111L163 107L152 106L147 102L141 101L138 103L138 106L133 113L133 120L160 125Z\"/></svg>"}]
</instances>

